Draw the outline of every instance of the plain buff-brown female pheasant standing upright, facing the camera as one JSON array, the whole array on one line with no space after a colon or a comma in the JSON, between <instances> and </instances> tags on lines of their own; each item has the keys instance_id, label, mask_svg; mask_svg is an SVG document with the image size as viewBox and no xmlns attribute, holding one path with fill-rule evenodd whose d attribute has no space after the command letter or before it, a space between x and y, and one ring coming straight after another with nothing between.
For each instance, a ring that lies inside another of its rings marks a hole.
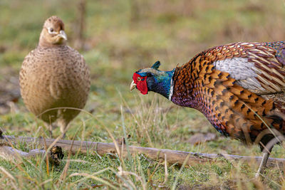
<instances>
[{"instance_id":1,"label":"plain buff-brown female pheasant standing upright, facing the camera","mask_svg":"<svg viewBox=\"0 0 285 190\"><path fill-rule=\"evenodd\" d=\"M50 127L58 121L63 138L66 127L86 105L90 71L78 51L66 46L63 21L51 16L43 24L36 49L20 70L21 96L28 110ZM62 109L56 107L73 107Z\"/></svg>"}]
</instances>

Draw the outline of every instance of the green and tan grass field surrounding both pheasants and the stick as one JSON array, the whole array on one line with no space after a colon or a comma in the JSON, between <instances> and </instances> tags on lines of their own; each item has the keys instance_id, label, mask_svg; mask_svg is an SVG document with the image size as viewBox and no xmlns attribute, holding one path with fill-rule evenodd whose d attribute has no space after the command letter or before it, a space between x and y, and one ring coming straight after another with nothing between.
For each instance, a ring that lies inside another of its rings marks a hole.
<instances>
[{"instance_id":1,"label":"green and tan grass field surrounding both pheasants and the stick","mask_svg":"<svg viewBox=\"0 0 285 190\"><path fill-rule=\"evenodd\" d=\"M0 99L5 89L18 90L17 78L24 56L36 47L43 21L51 15L66 23L68 44L75 43L78 2L0 2ZM247 147L222 137L198 111L177 107L164 97L141 95L129 87L135 70L156 60L161 70L186 63L199 51L237 41L279 41L285 39L285 1L235 0L105 0L87 1L85 46L80 52L91 70L91 92L85 110L71 123L67 139L112 142L130 134L129 144L140 147L189 152L260 156L257 146ZM2 99L4 100L4 99ZM21 98L1 112L4 134L48 137L41 120L28 112ZM1 106L1 104L0 104ZM122 109L121 109L122 107ZM123 110L123 111L121 111ZM198 132L212 132L217 138L202 144L188 141ZM53 130L58 136L58 128ZM16 146L23 151L35 147ZM285 157L285 149L274 147L271 157ZM0 189L282 189L284 171L270 168L265 179L254 180L258 163L230 163L225 159L180 167L149 160L143 155L120 160L90 154L71 155L66 174L59 167L46 171L41 158L9 162L0 160ZM120 172L119 167L123 171ZM64 174L64 175L63 175ZM165 178L165 175L168 176Z\"/></svg>"}]
</instances>

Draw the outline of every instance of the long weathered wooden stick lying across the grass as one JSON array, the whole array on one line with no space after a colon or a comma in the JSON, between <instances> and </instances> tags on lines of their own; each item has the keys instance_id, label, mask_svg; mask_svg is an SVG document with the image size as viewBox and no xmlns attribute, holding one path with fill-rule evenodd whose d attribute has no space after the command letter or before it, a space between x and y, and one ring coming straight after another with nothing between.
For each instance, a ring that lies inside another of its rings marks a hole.
<instances>
[{"instance_id":1,"label":"long weathered wooden stick lying across the grass","mask_svg":"<svg viewBox=\"0 0 285 190\"><path fill-rule=\"evenodd\" d=\"M44 146L43 138L33 138L33 137L14 137L14 136L3 136L4 139L0 139L1 142L13 142L13 143L22 143L26 142L28 144L40 144ZM56 139L45 139L46 146L50 146ZM72 146L71 146L72 144ZM86 141L74 141L71 140L63 140L60 139L58 142L56 142L57 146L60 146L62 149L69 151L71 149L71 152L82 152L89 154L99 154L100 156L103 156L104 154L116 154L115 144L113 143L104 143L104 142L86 142ZM118 147L120 149L120 154L123 157L126 157L128 155L127 149L125 148L125 144L120 145L118 144ZM146 157L150 159L165 159L165 154L167 157L167 162L170 164L183 164L188 154L190 154L190 157L187 161L187 165L192 164L198 164L198 163L204 163L204 162L212 162L214 159L217 159L219 157L224 157L226 159L229 159L229 161L235 160L235 161L244 161L244 162L260 162L261 157L248 157L248 156L238 156L238 155L232 155L232 154L207 154L207 153L195 153L195 152L184 152L184 151L176 151L176 150L170 150L170 149L156 149L156 148L149 148L149 147L135 147L135 146L129 146L129 150L131 154L145 154ZM268 167L274 167L276 165L279 165L279 167L284 167L285 159L279 159L279 158L269 158L267 162Z\"/></svg>"}]
</instances>

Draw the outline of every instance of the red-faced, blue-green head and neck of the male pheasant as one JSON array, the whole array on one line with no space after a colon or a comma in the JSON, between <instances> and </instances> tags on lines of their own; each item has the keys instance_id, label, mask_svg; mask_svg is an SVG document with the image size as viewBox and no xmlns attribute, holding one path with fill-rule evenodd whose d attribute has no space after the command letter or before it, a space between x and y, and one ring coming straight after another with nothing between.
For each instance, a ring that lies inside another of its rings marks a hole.
<instances>
[{"instance_id":1,"label":"red-faced, blue-green head and neck of the male pheasant","mask_svg":"<svg viewBox=\"0 0 285 190\"><path fill-rule=\"evenodd\" d=\"M151 68L144 68L135 72L130 90L137 88L143 95L153 91L169 98L172 75L175 70L161 71L158 70L159 66L160 61L157 61Z\"/></svg>"}]
</instances>

